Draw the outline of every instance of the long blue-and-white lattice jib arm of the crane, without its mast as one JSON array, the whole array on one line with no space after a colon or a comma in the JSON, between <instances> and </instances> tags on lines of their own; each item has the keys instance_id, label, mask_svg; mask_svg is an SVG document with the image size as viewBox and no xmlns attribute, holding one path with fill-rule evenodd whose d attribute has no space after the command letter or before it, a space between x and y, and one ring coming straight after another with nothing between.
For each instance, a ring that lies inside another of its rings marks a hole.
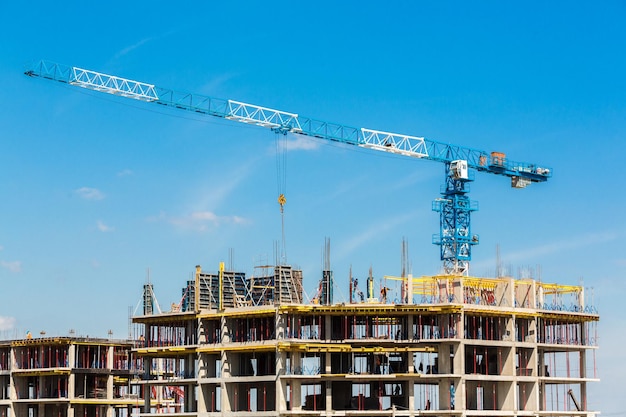
<instances>
[{"instance_id":1,"label":"long blue-and-white lattice jib arm of the crane, without its mast","mask_svg":"<svg viewBox=\"0 0 626 417\"><path fill-rule=\"evenodd\" d=\"M50 61L39 61L25 73L29 76L52 79L99 92L254 124L281 133L302 134L443 163L465 160L469 168L479 172L523 178L530 182L543 182L552 176L550 168L533 163L511 161L499 152L488 153L423 137L355 128L241 101L175 92L149 83L79 67L68 67Z\"/></svg>"}]
</instances>

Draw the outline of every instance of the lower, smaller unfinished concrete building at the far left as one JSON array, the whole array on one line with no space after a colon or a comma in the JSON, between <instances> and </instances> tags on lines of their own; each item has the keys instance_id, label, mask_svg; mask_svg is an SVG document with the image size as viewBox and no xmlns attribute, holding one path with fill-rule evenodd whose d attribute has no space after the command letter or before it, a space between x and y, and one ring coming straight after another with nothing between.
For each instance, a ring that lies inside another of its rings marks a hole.
<instances>
[{"instance_id":1,"label":"lower, smaller unfinished concrete building at the far left","mask_svg":"<svg viewBox=\"0 0 626 417\"><path fill-rule=\"evenodd\" d=\"M75 336L0 342L0 416L131 415L142 404L134 348Z\"/></svg>"}]
</instances>

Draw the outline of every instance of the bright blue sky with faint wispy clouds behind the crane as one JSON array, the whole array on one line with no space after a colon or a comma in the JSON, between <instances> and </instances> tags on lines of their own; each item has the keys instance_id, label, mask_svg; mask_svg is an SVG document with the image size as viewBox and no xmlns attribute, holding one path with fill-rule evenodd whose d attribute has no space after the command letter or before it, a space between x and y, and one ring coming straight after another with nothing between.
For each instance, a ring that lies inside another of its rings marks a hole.
<instances>
[{"instance_id":1,"label":"bright blue sky with faint wispy clouds behind the crane","mask_svg":"<svg viewBox=\"0 0 626 417\"><path fill-rule=\"evenodd\" d=\"M552 167L524 190L476 175L471 272L492 276L499 247L513 276L593 288L589 406L626 415L623 2L127 3L0 5L0 335L125 337L148 270L164 308L197 264L232 252L253 273L281 238L279 190L309 293L326 237L346 298L350 266L400 273L403 237L414 275L441 266L441 164L289 136L277 172L266 129L22 74L49 59Z\"/></svg>"}]
</instances>

